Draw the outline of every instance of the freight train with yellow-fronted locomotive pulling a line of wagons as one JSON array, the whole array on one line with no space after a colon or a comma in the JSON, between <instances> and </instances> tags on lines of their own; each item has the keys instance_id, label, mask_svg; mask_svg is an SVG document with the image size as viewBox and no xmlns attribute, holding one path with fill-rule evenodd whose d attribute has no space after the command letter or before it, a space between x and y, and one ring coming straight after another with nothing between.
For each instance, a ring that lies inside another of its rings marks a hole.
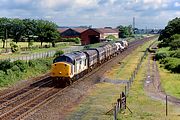
<instances>
[{"instance_id":1,"label":"freight train with yellow-fronted locomotive pulling a line of wagons","mask_svg":"<svg viewBox=\"0 0 180 120\"><path fill-rule=\"evenodd\" d=\"M69 85L127 48L128 42L123 40L60 55L53 60L51 77L60 84Z\"/></svg>"}]
</instances>

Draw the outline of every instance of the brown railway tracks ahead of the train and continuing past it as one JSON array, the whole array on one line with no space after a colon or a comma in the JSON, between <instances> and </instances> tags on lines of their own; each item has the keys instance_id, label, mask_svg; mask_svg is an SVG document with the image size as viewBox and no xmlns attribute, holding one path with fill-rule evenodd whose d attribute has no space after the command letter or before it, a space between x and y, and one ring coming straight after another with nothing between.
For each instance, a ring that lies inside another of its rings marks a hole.
<instances>
[{"instance_id":1,"label":"brown railway tracks ahead of the train and continuing past it","mask_svg":"<svg viewBox=\"0 0 180 120\"><path fill-rule=\"evenodd\" d=\"M132 52L133 49L135 49L138 45L143 44L145 41L148 40L145 39L131 42L129 44L129 48L120 55L122 57L126 56L129 52ZM113 59L107 61L106 63L110 63L111 61L113 61ZM95 74L103 65L97 67L78 81L84 80L92 74ZM78 81L75 81L75 83ZM0 120L22 119L31 112L37 110L38 107L51 101L64 89L56 88L50 77L47 77L28 87L2 95L0 96Z\"/></svg>"}]
</instances>

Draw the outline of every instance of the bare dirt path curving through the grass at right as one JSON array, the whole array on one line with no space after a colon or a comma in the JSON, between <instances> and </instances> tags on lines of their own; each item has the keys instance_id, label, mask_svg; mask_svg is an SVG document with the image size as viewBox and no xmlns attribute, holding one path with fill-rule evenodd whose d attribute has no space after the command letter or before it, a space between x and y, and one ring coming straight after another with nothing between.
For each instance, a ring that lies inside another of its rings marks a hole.
<instances>
[{"instance_id":1,"label":"bare dirt path curving through the grass at right","mask_svg":"<svg viewBox=\"0 0 180 120\"><path fill-rule=\"evenodd\" d=\"M161 87L158 66L156 60L153 59L153 56L154 54L152 53L148 55L147 74L144 82L144 89L150 97L165 101L167 94ZM180 106L180 99L171 95L167 95L167 98L168 102Z\"/></svg>"}]
</instances>

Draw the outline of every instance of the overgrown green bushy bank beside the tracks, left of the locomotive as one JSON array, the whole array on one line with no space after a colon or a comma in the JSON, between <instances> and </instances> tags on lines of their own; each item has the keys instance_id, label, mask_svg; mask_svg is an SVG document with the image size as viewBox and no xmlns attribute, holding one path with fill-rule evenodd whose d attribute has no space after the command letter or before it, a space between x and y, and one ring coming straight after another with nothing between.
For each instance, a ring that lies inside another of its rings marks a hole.
<instances>
[{"instance_id":1,"label":"overgrown green bushy bank beside the tracks, left of the locomotive","mask_svg":"<svg viewBox=\"0 0 180 120\"><path fill-rule=\"evenodd\" d=\"M47 73L51 67L51 63L52 58L31 60L29 62L0 62L0 87L7 87L15 84L17 81Z\"/></svg>"}]
</instances>

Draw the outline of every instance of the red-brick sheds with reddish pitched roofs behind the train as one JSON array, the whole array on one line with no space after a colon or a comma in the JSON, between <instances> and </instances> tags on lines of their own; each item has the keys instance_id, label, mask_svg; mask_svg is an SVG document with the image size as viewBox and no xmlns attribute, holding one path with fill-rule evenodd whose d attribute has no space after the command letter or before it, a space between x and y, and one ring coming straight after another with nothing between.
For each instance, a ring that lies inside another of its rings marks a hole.
<instances>
[{"instance_id":1,"label":"red-brick sheds with reddish pitched roofs behind the train","mask_svg":"<svg viewBox=\"0 0 180 120\"><path fill-rule=\"evenodd\" d=\"M79 37L82 45L101 42L109 35L119 38L119 30L112 28L66 28L59 31L63 38Z\"/></svg>"}]
</instances>

